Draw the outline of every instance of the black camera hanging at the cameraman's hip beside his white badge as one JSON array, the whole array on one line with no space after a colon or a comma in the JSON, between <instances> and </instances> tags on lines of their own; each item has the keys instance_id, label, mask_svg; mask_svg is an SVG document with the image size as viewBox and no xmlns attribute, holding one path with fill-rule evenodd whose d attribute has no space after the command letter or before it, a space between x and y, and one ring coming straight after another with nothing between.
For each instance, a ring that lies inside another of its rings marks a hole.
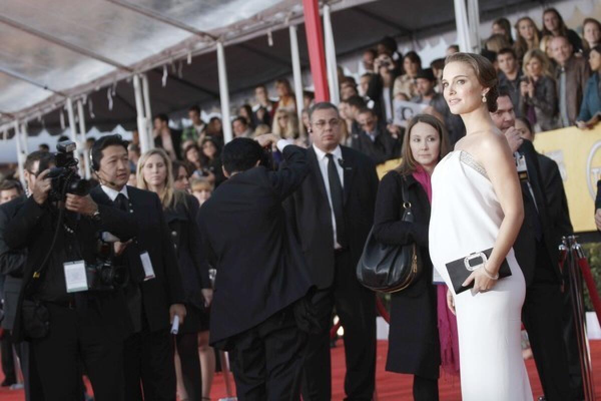
<instances>
[{"instance_id":1,"label":"black camera hanging at the cameraman's hip beside his white badge","mask_svg":"<svg viewBox=\"0 0 601 401\"><path fill-rule=\"evenodd\" d=\"M85 270L91 290L112 291L124 288L129 281L129 270L114 264L113 244L102 237L97 244L96 262L87 263Z\"/></svg>"}]
</instances>

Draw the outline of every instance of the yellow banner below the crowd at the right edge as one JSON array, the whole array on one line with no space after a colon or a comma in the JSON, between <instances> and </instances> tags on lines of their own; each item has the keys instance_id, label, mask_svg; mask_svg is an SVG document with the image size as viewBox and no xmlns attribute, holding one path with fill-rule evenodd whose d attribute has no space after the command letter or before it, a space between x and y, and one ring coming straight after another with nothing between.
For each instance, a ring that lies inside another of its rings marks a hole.
<instances>
[{"instance_id":1,"label":"yellow banner below the crowd at the right edge","mask_svg":"<svg viewBox=\"0 0 601 401\"><path fill-rule=\"evenodd\" d=\"M574 231L596 230L594 200L601 178L601 124L585 131L570 127L537 133L534 147L560 168Z\"/></svg>"}]
</instances>

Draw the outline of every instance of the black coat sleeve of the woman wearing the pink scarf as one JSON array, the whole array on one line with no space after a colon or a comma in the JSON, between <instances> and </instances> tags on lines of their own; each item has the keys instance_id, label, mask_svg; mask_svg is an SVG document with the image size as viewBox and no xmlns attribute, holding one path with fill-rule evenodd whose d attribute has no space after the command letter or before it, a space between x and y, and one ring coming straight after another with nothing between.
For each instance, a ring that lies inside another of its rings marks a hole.
<instances>
[{"instance_id":1,"label":"black coat sleeve of the woman wearing the pink scarf","mask_svg":"<svg viewBox=\"0 0 601 401\"><path fill-rule=\"evenodd\" d=\"M406 245L416 242L428 246L428 225L401 221L403 195L400 177L391 171L383 177L377 191L376 212L374 215L374 237L388 245Z\"/></svg>"}]
</instances>

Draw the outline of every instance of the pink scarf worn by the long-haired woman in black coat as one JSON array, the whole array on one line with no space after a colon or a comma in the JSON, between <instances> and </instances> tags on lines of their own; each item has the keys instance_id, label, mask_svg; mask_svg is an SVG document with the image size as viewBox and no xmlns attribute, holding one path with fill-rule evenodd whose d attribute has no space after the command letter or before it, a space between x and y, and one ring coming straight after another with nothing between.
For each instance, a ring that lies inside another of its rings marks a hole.
<instances>
[{"instance_id":1,"label":"pink scarf worn by the long-haired woman in black coat","mask_svg":"<svg viewBox=\"0 0 601 401\"><path fill-rule=\"evenodd\" d=\"M413 178L424 188L432 203L432 180L421 165L412 173ZM447 307L447 286L439 284L436 289L436 311L438 312L438 337L441 342L441 366L450 375L459 375L459 340L457 319Z\"/></svg>"}]
</instances>

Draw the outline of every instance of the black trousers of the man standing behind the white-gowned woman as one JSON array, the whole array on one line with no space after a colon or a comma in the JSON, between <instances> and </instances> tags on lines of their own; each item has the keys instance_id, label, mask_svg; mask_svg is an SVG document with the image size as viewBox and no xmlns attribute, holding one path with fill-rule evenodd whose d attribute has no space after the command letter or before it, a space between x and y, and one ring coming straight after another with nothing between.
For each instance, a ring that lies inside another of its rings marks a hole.
<instances>
[{"instance_id":1,"label":"black trousers of the man standing behind the white-gowned woman","mask_svg":"<svg viewBox=\"0 0 601 401\"><path fill-rule=\"evenodd\" d=\"M546 399L568 401L573 398L563 340L563 293L551 266L543 245L537 243L534 280L526 287L522 322Z\"/></svg>"}]
</instances>

